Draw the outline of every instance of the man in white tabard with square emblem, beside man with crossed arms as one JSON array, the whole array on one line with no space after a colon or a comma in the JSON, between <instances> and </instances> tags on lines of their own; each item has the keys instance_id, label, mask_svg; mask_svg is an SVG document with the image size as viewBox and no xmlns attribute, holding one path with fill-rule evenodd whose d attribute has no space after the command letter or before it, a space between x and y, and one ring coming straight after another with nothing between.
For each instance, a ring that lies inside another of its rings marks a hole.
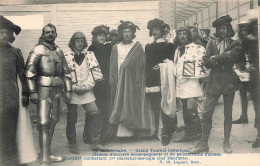
<instances>
[{"instance_id":1,"label":"man in white tabard with square emblem, beside man with crossed arms","mask_svg":"<svg viewBox=\"0 0 260 166\"><path fill-rule=\"evenodd\" d=\"M176 31L175 44L178 49L175 52L174 63L176 66L176 97L180 98L183 106L183 121L185 134L176 142L195 141L200 138L201 126L198 116L198 102L203 96L199 78L189 76L189 65L202 61L205 49L201 45L192 42L190 30L187 27L180 27ZM191 62L191 63L189 63ZM191 69L192 72L194 69ZM192 73L191 72L191 73Z\"/></svg>"}]
</instances>

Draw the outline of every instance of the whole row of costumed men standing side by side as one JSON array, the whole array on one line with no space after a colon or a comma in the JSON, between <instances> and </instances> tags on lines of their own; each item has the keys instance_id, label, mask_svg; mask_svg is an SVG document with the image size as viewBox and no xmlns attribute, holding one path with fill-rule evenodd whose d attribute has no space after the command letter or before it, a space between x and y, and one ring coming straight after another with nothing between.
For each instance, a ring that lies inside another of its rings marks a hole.
<instances>
[{"instance_id":1,"label":"whole row of costumed men standing side by side","mask_svg":"<svg viewBox=\"0 0 260 166\"><path fill-rule=\"evenodd\" d=\"M26 107L29 99L37 105L41 166L63 160L50 151L61 99L67 104L66 135L71 153L80 153L75 129L79 105L85 110L84 143L90 144L93 151L109 151L102 143L115 137L155 137L167 146L177 128L179 101L185 134L176 142L198 141L189 153L202 153L209 151L212 116L222 95L223 150L232 153L232 123L248 123L250 92L258 131L252 147L260 147L257 19L239 24L239 40L232 39L235 32L231 21L229 15L215 20L214 38L209 37L209 29L180 27L169 42L165 38L169 25L155 18L147 24L154 42L145 49L134 40L139 27L120 21L117 30L95 27L90 46L82 32L75 32L67 53L55 44L56 27L47 24L25 64L21 51L11 46L14 33L18 35L21 28L0 16L1 165L18 165L19 100ZM22 84L21 95L17 78ZM232 122L237 90L242 115Z\"/></svg>"}]
</instances>

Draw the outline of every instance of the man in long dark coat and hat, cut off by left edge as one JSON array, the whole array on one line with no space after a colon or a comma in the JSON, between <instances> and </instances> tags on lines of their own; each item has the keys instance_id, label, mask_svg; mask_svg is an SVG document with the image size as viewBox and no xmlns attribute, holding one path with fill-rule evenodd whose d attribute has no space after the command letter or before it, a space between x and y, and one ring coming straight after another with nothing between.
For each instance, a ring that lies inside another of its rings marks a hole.
<instances>
[{"instance_id":1,"label":"man in long dark coat and hat, cut off by left edge","mask_svg":"<svg viewBox=\"0 0 260 166\"><path fill-rule=\"evenodd\" d=\"M17 166L16 131L19 115L17 75L22 83L22 105L29 104L25 64L20 49L10 45L21 28L0 16L0 165Z\"/></svg>"}]
</instances>

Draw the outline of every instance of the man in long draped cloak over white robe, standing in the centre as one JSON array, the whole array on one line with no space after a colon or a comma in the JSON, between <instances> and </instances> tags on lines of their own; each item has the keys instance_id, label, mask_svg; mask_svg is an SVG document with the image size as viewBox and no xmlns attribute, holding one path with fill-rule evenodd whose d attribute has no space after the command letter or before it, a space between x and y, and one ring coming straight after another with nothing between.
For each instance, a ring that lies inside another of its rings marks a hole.
<instances>
[{"instance_id":1,"label":"man in long draped cloak over white robe, standing in the centre","mask_svg":"<svg viewBox=\"0 0 260 166\"><path fill-rule=\"evenodd\" d=\"M110 58L109 122L118 126L119 137L152 134L151 112L145 101L145 53L139 42L133 42L136 28L130 21L121 21L122 42L113 46Z\"/></svg>"}]
</instances>

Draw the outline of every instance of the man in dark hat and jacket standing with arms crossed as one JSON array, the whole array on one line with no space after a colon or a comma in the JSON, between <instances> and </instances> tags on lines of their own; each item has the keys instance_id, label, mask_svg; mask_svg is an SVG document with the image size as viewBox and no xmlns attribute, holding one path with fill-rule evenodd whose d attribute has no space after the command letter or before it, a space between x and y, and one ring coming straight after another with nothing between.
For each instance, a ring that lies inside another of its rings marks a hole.
<instances>
[{"instance_id":1,"label":"man in dark hat and jacket standing with arms crossed","mask_svg":"<svg viewBox=\"0 0 260 166\"><path fill-rule=\"evenodd\" d=\"M212 116L221 95L224 100L223 150L225 153L232 153L229 142L232 128L232 106L240 82L233 66L240 56L241 46L239 41L231 39L235 35L231 21L232 18L227 15L212 23L212 26L216 28L217 40L208 42L206 55L203 58L205 67L210 68L211 71L206 88L202 136L199 144L191 149L190 153L209 151L208 139L212 128Z\"/></svg>"}]
</instances>

